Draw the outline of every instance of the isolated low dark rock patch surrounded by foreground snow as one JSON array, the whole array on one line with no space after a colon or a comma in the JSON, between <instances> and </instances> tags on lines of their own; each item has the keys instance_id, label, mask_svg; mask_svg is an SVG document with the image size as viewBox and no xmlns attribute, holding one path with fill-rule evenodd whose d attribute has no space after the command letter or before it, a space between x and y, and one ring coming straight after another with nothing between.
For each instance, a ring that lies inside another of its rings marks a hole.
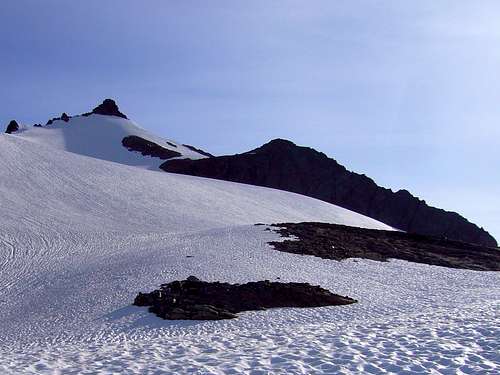
<instances>
[{"instance_id":1,"label":"isolated low dark rock patch surrounded by foreground snow","mask_svg":"<svg viewBox=\"0 0 500 375\"><path fill-rule=\"evenodd\" d=\"M139 293L134 305L150 306L163 319L219 320L236 313L275 307L320 307L357 302L319 286L276 283L269 280L246 284L200 281L194 276L162 284L151 293Z\"/></svg>"}]
</instances>

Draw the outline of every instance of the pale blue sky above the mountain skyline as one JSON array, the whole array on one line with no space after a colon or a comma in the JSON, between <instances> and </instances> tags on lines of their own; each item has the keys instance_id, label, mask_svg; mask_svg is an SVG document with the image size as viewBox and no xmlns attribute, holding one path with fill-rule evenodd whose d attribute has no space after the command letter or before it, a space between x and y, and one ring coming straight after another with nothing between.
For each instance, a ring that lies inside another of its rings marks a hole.
<instances>
[{"instance_id":1,"label":"pale blue sky above the mountain skyline","mask_svg":"<svg viewBox=\"0 0 500 375\"><path fill-rule=\"evenodd\" d=\"M106 97L215 154L323 151L500 239L500 1L0 2L0 122Z\"/></svg>"}]
</instances>

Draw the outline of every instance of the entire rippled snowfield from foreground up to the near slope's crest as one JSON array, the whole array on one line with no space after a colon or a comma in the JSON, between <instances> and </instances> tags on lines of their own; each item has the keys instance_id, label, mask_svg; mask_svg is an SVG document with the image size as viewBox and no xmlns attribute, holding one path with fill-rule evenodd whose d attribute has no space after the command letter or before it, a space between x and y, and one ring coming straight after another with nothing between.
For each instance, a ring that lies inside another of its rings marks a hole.
<instances>
[{"instance_id":1,"label":"entire rippled snowfield from foreground up to the near slope's crest","mask_svg":"<svg viewBox=\"0 0 500 375\"><path fill-rule=\"evenodd\" d=\"M296 194L0 136L0 373L495 373L500 276L278 252L256 222L385 225ZM190 256L190 257L187 257ZM138 291L306 281L358 299L162 321Z\"/></svg>"}]
</instances>

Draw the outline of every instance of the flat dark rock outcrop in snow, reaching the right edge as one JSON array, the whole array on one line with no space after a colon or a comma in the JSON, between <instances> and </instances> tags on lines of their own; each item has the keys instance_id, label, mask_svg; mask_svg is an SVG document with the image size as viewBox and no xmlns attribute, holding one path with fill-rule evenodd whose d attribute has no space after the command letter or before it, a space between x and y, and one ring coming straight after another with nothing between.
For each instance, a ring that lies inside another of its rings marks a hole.
<instances>
[{"instance_id":1,"label":"flat dark rock outcrop in snow, reaching the right edge","mask_svg":"<svg viewBox=\"0 0 500 375\"><path fill-rule=\"evenodd\" d=\"M276 250L325 259L364 258L477 271L500 271L500 250L418 234L326 223L273 224L272 230L294 239L271 242Z\"/></svg>"}]
</instances>

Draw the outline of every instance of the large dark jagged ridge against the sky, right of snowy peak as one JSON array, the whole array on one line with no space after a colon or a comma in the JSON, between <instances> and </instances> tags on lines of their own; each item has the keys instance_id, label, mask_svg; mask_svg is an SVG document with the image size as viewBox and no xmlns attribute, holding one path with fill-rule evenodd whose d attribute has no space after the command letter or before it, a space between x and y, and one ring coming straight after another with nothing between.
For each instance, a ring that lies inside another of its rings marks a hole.
<instances>
[{"instance_id":1,"label":"large dark jagged ridge against the sky, right of snowy peak","mask_svg":"<svg viewBox=\"0 0 500 375\"><path fill-rule=\"evenodd\" d=\"M282 139L243 154L172 160L160 168L287 190L345 207L407 232L497 246L488 232L455 212L430 207L406 190L393 192L380 187L321 152Z\"/></svg>"}]
</instances>

